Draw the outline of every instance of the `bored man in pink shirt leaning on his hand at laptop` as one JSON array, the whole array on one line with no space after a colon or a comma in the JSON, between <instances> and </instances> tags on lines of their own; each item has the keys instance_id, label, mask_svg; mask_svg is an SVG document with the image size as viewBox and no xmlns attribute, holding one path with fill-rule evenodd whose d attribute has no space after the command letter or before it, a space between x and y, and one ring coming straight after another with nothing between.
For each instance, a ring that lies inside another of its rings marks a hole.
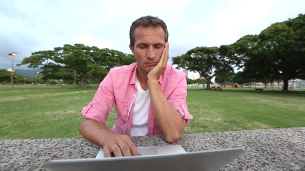
<instances>
[{"instance_id":1,"label":"bored man in pink shirt leaning on his hand at laptop","mask_svg":"<svg viewBox=\"0 0 305 171\"><path fill-rule=\"evenodd\" d=\"M83 108L80 133L102 145L105 157L140 155L130 136L165 135L176 142L192 118L185 73L167 64L168 29L158 17L143 16L130 26L129 48L136 62L110 69L93 100ZM112 131L105 120L113 104Z\"/></svg>"}]
</instances>

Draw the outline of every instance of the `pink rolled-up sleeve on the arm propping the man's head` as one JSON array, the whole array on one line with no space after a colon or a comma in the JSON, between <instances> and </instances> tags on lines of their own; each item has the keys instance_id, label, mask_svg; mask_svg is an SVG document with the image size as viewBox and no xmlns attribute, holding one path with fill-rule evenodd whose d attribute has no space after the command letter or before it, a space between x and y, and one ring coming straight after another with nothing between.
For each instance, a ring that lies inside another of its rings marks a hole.
<instances>
[{"instance_id":1,"label":"pink rolled-up sleeve on the arm propping the man's head","mask_svg":"<svg viewBox=\"0 0 305 171\"><path fill-rule=\"evenodd\" d=\"M193 118L190 114L186 102L187 97L187 81L186 78L183 77L177 83L176 88L172 91L172 93L168 96L169 103L179 112L182 118L184 118L189 123L189 120Z\"/></svg>"}]
</instances>

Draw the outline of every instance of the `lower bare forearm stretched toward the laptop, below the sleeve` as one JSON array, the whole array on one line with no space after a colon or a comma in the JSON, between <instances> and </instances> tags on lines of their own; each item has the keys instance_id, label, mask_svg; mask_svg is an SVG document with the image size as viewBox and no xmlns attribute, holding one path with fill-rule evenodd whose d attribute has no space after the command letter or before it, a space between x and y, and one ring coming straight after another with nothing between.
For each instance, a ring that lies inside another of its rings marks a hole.
<instances>
[{"instance_id":1,"label":"lower bare forearm stretched toward the laptop, below the sleeve","mask_svg":"<svg viewBox=\"0 0 305 171\"><path fill-rule=\"evenodd\" d=\"M105 125L96 120L86 118L81 122L79 131L86 139L102 146L104 145L105 137L113 134Z\"/></svg>"}]
</instances>

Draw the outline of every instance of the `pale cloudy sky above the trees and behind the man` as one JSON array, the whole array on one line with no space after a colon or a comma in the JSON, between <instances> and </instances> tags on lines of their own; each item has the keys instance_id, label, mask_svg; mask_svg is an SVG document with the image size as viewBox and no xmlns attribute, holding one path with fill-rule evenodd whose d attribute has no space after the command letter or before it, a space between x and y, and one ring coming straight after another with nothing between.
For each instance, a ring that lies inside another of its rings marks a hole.
<instances>
[{"instance_id":1,"label":"pale cloudy sky above the trees and behind the man","mask_svg":"<svg viewBox=\"0 0 305 171\"><path fill-rule=\"evenodd\" d=\"M131 53L129 28L144 15L163 19L170 57L196 46L231 44L305 13L305 0L1 0L0 68L38 50L83 43ZM171 63L171 60L169 61Z\"/></svg>"}]
</instances>

